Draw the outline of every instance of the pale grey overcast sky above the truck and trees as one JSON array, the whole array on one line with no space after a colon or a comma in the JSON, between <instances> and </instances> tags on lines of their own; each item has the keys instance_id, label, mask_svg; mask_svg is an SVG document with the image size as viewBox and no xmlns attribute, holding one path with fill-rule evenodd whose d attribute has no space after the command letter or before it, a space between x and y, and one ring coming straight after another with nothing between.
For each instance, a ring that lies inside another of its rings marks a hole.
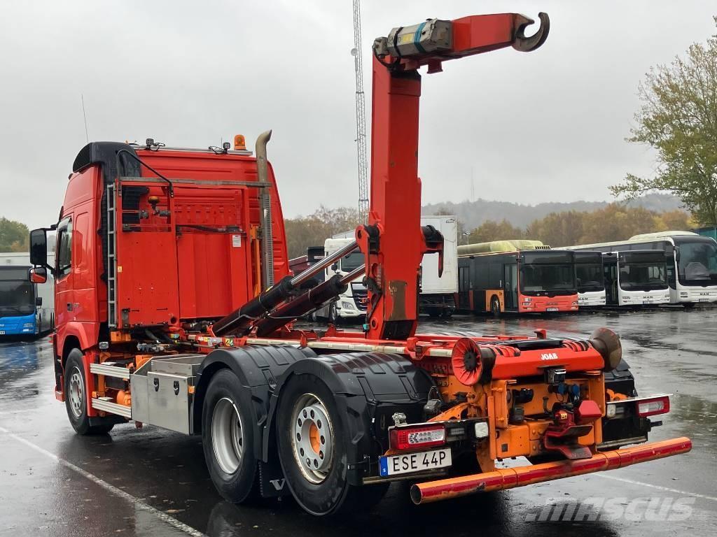
<instances>
[{"instance_id":1,"label":"pale grey overcast sky above the truck and trees","mask_svg":"<svg viewBox=\"0 0 717 537\"><path fill-rule=\"evenodd\" d=\"M447 62L423 82L424 203L607 200L654 155L624 141L637 84L715 33L707 1L364 0L370 122L374 37L429 17L551 17L541 49ZM274 130L286 217L356 205L350 0L7 1L0 18L0 216L57 221L90 140L206 147ZM369 125L370 127L370 125Z\"/></svg>"}]
</instances>

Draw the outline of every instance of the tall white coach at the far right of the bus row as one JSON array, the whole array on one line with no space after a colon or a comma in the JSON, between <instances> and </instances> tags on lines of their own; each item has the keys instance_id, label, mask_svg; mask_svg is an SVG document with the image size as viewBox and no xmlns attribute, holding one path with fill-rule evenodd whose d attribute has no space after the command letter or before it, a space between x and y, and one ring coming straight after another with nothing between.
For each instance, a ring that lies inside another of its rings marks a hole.
<instances>
[{"instance_id":1,"label":"tall white coach at the far right of the bus row","mask_svg":"<svg viewBox=\"0 0 717 537\"><path fill-rule=\"evenodd\" d=\"M627 241L568 246L568 250L617 252L663 251L667 261L670 303L689 306L717 301L717 242L691 231L660 231Z\"/></svg>"}]
</instances>

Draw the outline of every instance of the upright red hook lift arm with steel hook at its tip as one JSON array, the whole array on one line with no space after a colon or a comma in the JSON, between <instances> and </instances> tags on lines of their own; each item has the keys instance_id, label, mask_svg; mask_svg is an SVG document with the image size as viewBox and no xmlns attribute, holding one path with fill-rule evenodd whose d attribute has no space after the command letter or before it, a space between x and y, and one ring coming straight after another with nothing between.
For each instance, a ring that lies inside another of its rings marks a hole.
<instances>
[{"instance_id":1,"label":"upright red hook lift arm with steel hook at its tip","mask_svg":"<svg viewBox=\"0 0 717 537\"><path fill-rule=\"evenodd\" d=\"M356 228L366 256L369 308L366 339L408 339L418 322L419 266L424 253L438 253L443 238L420 227L418 178L419 67L441 72L442 63L505 47L531 52L548 37L550 21L525 36L532 19L514 14L428 19L399 26L374 41L371 110L371 208L369 223Z\"/></svg>"}]
</instances>

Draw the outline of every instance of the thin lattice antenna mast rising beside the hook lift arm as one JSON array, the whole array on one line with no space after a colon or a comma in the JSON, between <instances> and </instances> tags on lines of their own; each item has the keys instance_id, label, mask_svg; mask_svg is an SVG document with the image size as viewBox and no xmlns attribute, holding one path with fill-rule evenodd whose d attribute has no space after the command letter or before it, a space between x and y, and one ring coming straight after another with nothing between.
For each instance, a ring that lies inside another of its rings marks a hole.
<instances>
[{"instance_id":1,"label":"thin lattice antenna mast rising beside the hook lift arm","mask_svg":"<svg viewBox=\"0 0 717 537\"><path fill-rule=\"evenodd\" d=\"M353 0L353 66L356 71L356 152L359 164L359 217L369 220L369 151L366 148L364 61L361 58L361 1Z\"/></svg>"}]
</instances>

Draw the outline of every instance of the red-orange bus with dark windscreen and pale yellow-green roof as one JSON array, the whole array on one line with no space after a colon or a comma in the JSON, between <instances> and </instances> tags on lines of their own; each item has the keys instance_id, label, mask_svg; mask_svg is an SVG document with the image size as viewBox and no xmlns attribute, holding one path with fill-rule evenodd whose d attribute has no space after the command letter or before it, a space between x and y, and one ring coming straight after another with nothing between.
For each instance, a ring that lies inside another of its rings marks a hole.
<instances>
[{"instance_id":1,"label":"red-orange bus with dark windscreen and pale yellow-green roof","mask_svg":"<svg viewBox=\"0 0 717 537\"><path fill-rule=\"evenodd\" d=\"M574 252L512 241L458 247L458 308L494 316L503 312L576 311ZM495 251L498 248L513 251ZM485 253L482 253L485 252Z\"/></svg>"}]
</instances>

